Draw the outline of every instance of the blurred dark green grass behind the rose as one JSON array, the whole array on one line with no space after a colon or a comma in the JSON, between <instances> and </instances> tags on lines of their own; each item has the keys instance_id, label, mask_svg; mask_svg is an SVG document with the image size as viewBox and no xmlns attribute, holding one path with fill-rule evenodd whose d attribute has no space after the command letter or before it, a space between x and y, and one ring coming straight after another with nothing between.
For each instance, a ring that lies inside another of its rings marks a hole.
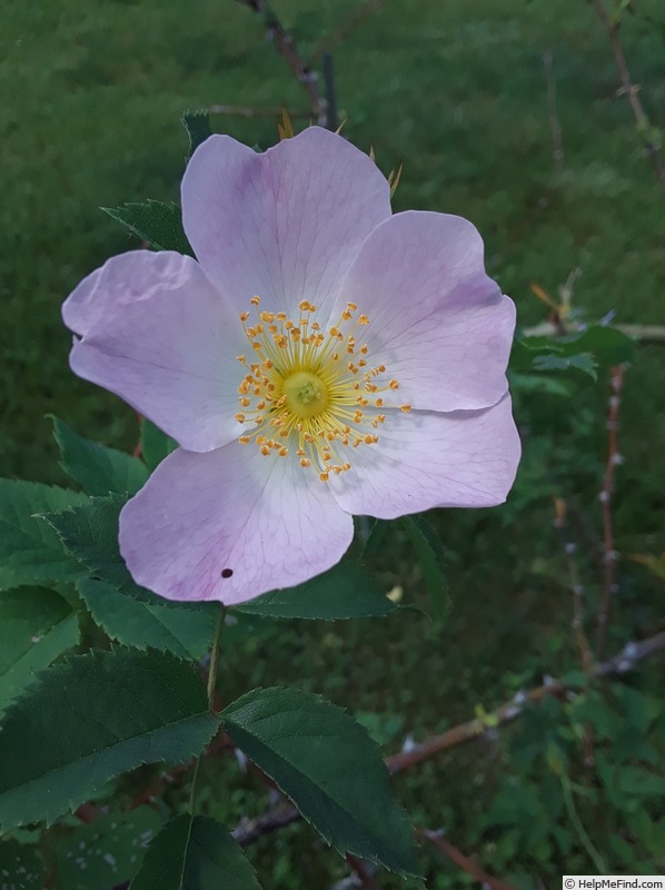
<instances>
[{"instance_id":1,"label":"blurred dark green grass behind the rose","mask_svg":"<svg viewBox=\"0 0 665 890\"><path fill-rule=\"evenodd\" d=\"M274 9L307 56L358 6L281 0ZM663 127L665 39L652 21L663 10L658 0L635 6L638 14L625 17L622 37L641 98ZM132 413L67 365L62 299L108 256L136 246L98 208L178 199L183 109L285 103L307 110L307 101L260 19L232 0L4 0L2 19L0 471L62 483L46 413L107 444L131 447L137 437ZM555 189L546 52L565 152ZM613 310L622 323L665 323L664 191L627 100L616 95L612 50L589 4L386 0L335 48L334 61L347 136L361 148L374 146L386 172L405 161L396 209L470 218L522 324L544 318L529 283L556 296L575 268L582 276L574 303L587 317ZM219 116L214 128L266 147L276 138L270 117ZM625 554L665 546L663 357L663 347L639 346L626 377L616 493L617 548ZM280 625L230 669L229 690L296 682L353 711L399 715L396 748L407 730L416 736L439 731L480 701L502 701L512 682L538 682L544 670L570 666L570 595L552 532L552 496L577 507L593 602L606 396L603 377L572 399L517 398L525 458L510 501L437 520L450 554L451 605L443 623L414 613L375 624ZM407 542L395 534L390 552L389 561L377 560L377 571L426 605ZM653 632L663 613L662 583L627 563L619 574L617 644ZM464 848L492 792L497 767L487 756L485 749L454 752L400 779L398 790L418 818L446 824ZM231 795L216 792L216 781L210 777L210 802L229 821L265 804L250 780ZM252 854L271 876L267 887L322 887L328 869L344 873L310 837L305 852L292 830L277 847L274 839L258 846ZM490 867L489 848L485 854ZM288 864L296 856L304 858L305 877ZM436 871L436 887L465 886L448 863ZM390 880L381 886L393 887Z\"/></svg>"}]
</instances>

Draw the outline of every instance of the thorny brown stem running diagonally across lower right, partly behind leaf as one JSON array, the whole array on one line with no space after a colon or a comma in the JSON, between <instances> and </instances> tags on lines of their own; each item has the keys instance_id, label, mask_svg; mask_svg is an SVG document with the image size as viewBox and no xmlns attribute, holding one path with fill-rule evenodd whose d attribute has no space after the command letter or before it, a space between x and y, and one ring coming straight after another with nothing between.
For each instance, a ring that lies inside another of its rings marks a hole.
<instances>
[{"instance_id":1,"label":"thorny brown stem running diagonally across lower right, partly behind leaf","mask_svg":"<svg viewBox=\"0 0 665 890\"><path fill-rule=\"evenodd\" d=\"M627 643L621 652L612 659L597 663L592 669L592 676L603 678L611 674L623 674L651 655L665 650L665 631L649 636L639 643ZM386 759L386 765L390 773L398 773L413 767L416 763L421 763L429 760L435 754L440 753L450 748L455 748L463 742L469 742L485 734L488 724L498 726L508 723L519 716L528 705L536 704L542 701L546 695L560 696L569 690L563 681L552 680L544 683L542 686L530 690L529 692L522 692L515 695L509 702L506 702L496 711L493 711L485 720L469 720L467 723L460 723L458 726L426 739L421 744L411 751L401 751ZM270 834L284 825L296 822L300 818L300 813L291 803L280 803L276 809L270 810L268 813L257 817L252 820L247 820L239 824L232 832L235 839L241 847L248 847L257 841L259 838Z\"/></svg>"}]
</instances>

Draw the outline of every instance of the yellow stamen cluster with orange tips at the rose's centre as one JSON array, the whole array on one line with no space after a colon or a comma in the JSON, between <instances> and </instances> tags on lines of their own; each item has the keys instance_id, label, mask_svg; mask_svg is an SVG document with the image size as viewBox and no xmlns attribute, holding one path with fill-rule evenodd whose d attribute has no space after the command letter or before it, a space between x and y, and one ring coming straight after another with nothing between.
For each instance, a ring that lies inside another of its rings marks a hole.
<instances>
[{"instance_id":1,"label":"yellow stamen cluster with orange tips at the rose's centre","mask_svg":"<svg viewBox=\"0 0 665 890\"><path fill-rule=\"evenodd\" d=\"M309 300L299 304L296 320L286 313L262 312L260 297L250 304L252 312L240 315L251 353L237 357L246 374L238 387L236 421L251 433L239 442L254 441L266 456L286 457L295 451L300 466L314 464L327 482L330 473L350 469L354 448L379 441L386 415L375 408L409 412L410 405L385 403L381 394L394 393L399 383L387 376L385 365L371 365L367 344L356 339L358 327L369 324L366 315L354 318L356 304L347 303L327 330L321 330Z\"/></svg>"}]
</instances>

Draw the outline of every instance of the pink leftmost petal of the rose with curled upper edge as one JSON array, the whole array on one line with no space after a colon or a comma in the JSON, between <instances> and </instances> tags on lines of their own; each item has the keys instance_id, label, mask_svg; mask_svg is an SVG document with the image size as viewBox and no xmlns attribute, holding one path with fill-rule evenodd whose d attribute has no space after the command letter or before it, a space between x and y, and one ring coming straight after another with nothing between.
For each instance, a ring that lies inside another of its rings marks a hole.
<instances>
[{"instance_id":1,"label":"pink leftmost petal of the rose with curled upper edge","mask_svg":"<svg viewBox=\"0 0 665 890\"><path fill-rule=\"evenodd\" d=\"M240 435L236 356L247 348L191 257L136 250L109 259L63 306L72 370L123 398L180 445L210 451Z\"/></svg>"}]
</instances>

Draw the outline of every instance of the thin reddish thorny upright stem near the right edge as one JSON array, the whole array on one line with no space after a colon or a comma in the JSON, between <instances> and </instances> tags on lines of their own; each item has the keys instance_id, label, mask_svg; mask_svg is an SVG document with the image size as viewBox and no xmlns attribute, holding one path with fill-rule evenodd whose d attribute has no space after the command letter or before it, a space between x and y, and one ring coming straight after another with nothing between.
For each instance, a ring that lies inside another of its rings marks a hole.
<instances>
[{"instance_id":1,"label":"thin reddish thorny upright stem near the right edge","mask_svg":"<svg viewBox=\"0 0 665 890\"><path fill-rule=\"evenodd\" d=\"M596 657L602 659L607 639L607 624L609 609L616 577L616 551L614 550L614 525L612 518L612 493L614 491L614 473L622 461L618 452L618 412L621 406L622 387L624 383L625 365L612 368L612 395L609 396L609 411L607 414L607 464L599 500L603 512L603 601L598 613L598 632L596 637Z\"/></svg>"}]
</instances>

